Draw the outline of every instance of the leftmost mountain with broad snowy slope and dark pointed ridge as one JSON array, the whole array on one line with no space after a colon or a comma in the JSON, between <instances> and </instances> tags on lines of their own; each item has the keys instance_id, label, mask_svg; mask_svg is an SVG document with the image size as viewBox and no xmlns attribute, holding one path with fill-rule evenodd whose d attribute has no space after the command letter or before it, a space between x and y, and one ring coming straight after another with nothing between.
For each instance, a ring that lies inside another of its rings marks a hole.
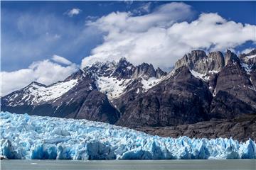
<instances>
[{"instance_id":1,"label":"leftmost mountain with broad snowy slope and dark pointed ridge","mask_svg":"<svg viewBox=\"0 0 256 170\"><path fill-rule=\"evenodd\" d=\"M97 90L90 74L82 70L50 86L32 82L1 98L1 110L108 123L119 118L119 112L111 106L107 96Z\"/></svg>"}]
</instances>

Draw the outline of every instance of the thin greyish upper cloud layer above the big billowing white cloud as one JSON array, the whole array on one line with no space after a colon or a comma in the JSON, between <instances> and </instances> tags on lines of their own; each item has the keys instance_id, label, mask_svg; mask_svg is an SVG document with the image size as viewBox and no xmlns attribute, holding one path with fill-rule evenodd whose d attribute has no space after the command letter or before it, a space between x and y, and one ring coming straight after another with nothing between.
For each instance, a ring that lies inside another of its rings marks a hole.
<instances>
[{"instance_id":1,"label":"thin greyish upper cloud layer above the big billowing white cloud","mask_svg":"<svg viewBox=\"0 0 256 170\"><path fill-rule=\"evenodd\" d=\"M112 12L102 16L87 26L95 26L108 33L145 32L149 28L168 28L177 21L190 21L194 17L191 6L183 3L171 3L159 6L144 16L132 16L131 12Z\"/></svg>"}]
</instances>

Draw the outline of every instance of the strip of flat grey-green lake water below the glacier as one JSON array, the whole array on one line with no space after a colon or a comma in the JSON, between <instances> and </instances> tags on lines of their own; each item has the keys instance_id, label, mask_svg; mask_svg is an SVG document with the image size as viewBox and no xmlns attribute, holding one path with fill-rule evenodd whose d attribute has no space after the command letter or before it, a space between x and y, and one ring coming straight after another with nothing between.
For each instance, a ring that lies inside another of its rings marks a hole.
<instances>
[{"instance_id":1,"label":"strip of flat grey-green lake water below the glacier","mask_svg":"<svg viewBox=\"0 0 256 170\"><path fill-rule=\"evenodd\" d=\"M43 170L43 169L99 169L99 170L160 170L160 169L239 169L255 170L256 159L232 160L114 160L114 161L73 161L73 160L2 160L2 170Z\"/></svg>"}]
</instances>

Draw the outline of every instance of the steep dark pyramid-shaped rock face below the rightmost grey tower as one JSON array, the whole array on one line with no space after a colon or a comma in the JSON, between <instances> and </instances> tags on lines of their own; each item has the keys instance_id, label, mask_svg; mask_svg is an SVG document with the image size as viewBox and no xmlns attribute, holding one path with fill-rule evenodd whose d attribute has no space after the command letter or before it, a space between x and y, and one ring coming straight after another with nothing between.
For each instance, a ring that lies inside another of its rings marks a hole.
<instances>
[{"instance_id":1,"label":"steep dark pyramid-shaped rock face below the rightmost grey tower","mask_svg":"<svg viewBox=\"0 0 256 170\"><path fill-rule=\"evenodd\" d=\"M215 86L211 117L234 118L243 113L256 113L256 91L252 89L252 83L241 67L239 58L228 51L225 61L226 65L218 75Z\"/></svg>"}]
</instances>

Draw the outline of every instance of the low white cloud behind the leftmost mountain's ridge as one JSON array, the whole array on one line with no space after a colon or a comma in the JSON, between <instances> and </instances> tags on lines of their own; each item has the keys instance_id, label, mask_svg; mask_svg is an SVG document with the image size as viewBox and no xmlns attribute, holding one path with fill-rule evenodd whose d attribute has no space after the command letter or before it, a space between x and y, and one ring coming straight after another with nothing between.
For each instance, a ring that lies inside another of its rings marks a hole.
<instances>
[{"instance_id":1,"label":"low white cloud behind the leftmost mountain's ridge","mask_svg":"<svg viewBox=\"0 0 256 170\"><path fill-rule=\"evenodd\" d=\"M42 60L33 62L27 69L18 69L14 72L0 72L1 76L1 96L16 91L27 86L32 81L41 84L53 84L70 76L78 69L76 64L69 64L66 67L60 64Z\"/></svg>"}]
</instances>

